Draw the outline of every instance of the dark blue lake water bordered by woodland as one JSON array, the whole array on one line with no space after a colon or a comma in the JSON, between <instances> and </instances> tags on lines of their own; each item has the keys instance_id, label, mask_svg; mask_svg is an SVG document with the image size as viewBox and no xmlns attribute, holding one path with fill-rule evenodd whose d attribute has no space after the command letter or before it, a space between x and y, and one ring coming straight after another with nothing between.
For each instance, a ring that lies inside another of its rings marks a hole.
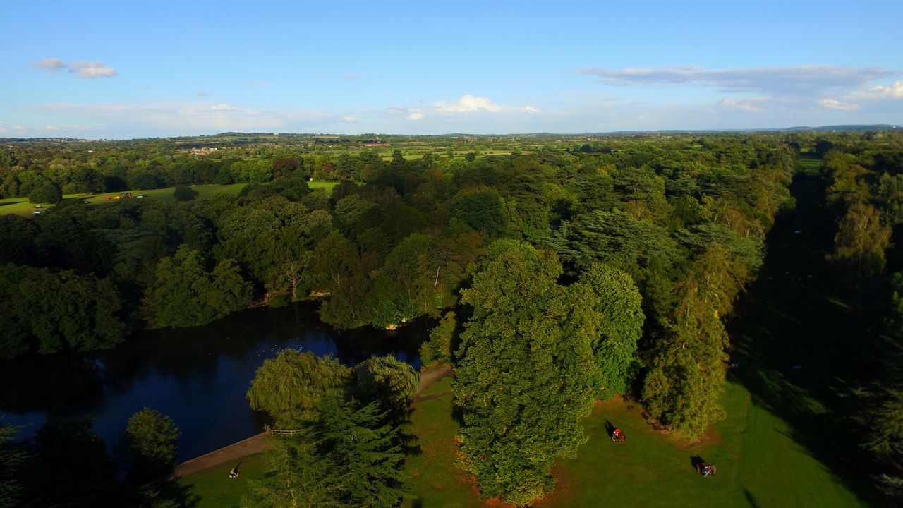
<instances>
[{"instance_id":1,"label":"dark blue lake water bordered by woodland","mask_svg":"<svg viewBox=\"0 0 903 508\"><path fill-rule=\"evenodd\" d=\"M285 348L332 355L353 365L395 353L419 367L418 349L435 325L417 319L396 332L323 325L315 304L250 309L215 323L136 334L115 350L32 356L0 362L0 423L33 435L48 416L96 419L108 445L144 407L169 415L182 431L182 460L263 430L247 406L257 367Z\"/></svg>"}]
</instances>

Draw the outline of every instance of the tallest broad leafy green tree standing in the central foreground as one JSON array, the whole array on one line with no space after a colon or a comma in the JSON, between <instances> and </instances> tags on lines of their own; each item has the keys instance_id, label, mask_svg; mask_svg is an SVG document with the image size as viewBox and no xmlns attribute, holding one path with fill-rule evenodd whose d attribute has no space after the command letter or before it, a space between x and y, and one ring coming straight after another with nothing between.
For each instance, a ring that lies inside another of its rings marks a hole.
<instances>
[{"instance_id":1,"label":"tallest broad leafy green tree standing in the central foreground","mask_svg":"<svg viewBox=\"0 0 903 508\"><path fill-rule=\"evenodd\" d=\"M555 457L573 456L586 439L593 338L577 325L586 311L569 306L561 273L554 253L498 240L461 290L473 306L452 384L464 419L461 466L484 496L507 503L548 493Z\"/></svg>"}]
</instances>

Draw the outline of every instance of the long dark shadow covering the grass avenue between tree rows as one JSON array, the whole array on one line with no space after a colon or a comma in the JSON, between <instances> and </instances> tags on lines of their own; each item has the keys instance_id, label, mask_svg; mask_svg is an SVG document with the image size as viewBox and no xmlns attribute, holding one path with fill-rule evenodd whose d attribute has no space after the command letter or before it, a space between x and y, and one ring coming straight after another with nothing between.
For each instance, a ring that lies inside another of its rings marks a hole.
<instances>
[{"instance_id":1,"label":"long dark shadow covering the grass avenue between tree rows","mask_svg":"<svg viewBox=\"0 0 903 508\"><path fill-rule=\"evenodd\" d=\"M789 437L836 479L874 504L880 497L866 473L844 466L862 455L844 425L842 401L861 354L824 261L833 217L817 177L797 176L791 192L796 209L778 216L765 265L729 324L731 362L738 363L729 378L749 390L754 404L784 419ZM757 505L749 493L747 500Z\"/></svg>"}]
</instances>

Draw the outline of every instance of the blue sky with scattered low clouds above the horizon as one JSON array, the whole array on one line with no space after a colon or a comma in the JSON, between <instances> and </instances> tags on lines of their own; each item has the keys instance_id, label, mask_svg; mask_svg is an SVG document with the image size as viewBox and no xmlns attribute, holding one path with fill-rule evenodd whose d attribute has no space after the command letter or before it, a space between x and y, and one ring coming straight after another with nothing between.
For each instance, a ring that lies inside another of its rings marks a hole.
<instances>
[{"instance_id":1,"label":"blue sky with scattered low clouds above the horizon","mask_svg":"<svg viewBox=\"0 0 903 508\"><path fill-rule=\"evenodd\" d=\"M903 124L903 2L6 0L0 137Z\"/></svg>"}]
</instances>

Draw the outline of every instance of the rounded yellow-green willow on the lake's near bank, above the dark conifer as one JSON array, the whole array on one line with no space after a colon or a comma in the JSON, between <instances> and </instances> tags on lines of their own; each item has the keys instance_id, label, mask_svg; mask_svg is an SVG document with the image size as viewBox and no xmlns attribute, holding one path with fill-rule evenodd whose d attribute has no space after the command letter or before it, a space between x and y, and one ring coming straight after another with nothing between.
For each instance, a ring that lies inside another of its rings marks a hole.
<instances>
[{"instance_id":1,"label":"rounded yellow-green willow on the lake's near bank, above the dark conifer","mask_svg":"<svg viewBox=\"0 0 903 508\"><path fill-rule=\"evenodd\" d=\"M286 349L265 360L256 372L247 400L266 411L277 425L294 428L314 418L316 403L332 391L344 391L350 371L334 358Z\"/></svg>"}]
</instances>

